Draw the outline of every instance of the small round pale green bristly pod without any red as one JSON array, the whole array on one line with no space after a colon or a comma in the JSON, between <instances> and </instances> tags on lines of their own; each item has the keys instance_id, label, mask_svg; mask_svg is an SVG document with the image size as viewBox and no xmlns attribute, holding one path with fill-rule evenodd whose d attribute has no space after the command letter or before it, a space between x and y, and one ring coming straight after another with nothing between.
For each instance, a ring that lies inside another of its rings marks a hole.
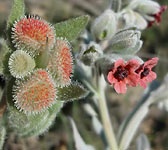
<instances>
[{"instance_id":1,"label":"small round pale green bristly pod without any red","mask_svg":"<svg viewBox=\"0 0 168 150\"><path fill-rule=\"evenodd\" d=\"M35 61L22 50L15 51L9 58L9 71L15 78L23 78L35 68Z\"/></svg>"}]
</instances>

